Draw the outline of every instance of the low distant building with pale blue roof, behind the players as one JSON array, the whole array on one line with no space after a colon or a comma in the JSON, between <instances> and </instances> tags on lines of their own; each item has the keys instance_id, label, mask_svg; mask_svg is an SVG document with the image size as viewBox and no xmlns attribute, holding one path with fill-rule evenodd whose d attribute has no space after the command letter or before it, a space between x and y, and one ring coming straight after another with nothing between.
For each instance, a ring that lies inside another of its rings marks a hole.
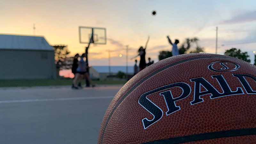
<instances>
[{"instance_id":1,"label":"low distant building with pale blue roof, behind the players","mask_svg":"<svg viewBox=\"0 0 256 144\"><path fill-rule=\"evenodd\" d=\"M111 73L109 74L108 66L91 66L89 69L90 77L92 79L110 80L109 77L112 76L111 80L113 80L113 78L116 80L118 78L115 78L115 76L118 71L126 74L126 66L111 66L110 70ZM128 66L128 75L133 76L133 73L133 66Z\"/></svg>"}]
</instances>

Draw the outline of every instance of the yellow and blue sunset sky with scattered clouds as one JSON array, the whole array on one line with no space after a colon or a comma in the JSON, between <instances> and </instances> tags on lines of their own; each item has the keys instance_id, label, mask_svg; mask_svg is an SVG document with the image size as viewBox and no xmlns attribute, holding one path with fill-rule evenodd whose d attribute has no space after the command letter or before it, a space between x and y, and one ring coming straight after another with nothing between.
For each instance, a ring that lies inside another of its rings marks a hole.
<instances>
[{"instance_id":1,"label":"yellow and blue sunset sky with scattered clouds","mask_svg":"<svg viewBox=\"0 0 256 144\"><path fill-rule=\"evenodd\" d=\"M156 15L151 12L156 10ZM106 45L91 45L89 64L126 65L129 45L130 66L138 48L150 36L146 58L158 61L159 51L172 50L166 36L179 39L197 37L206 53L215 53L218 26L218 54L231 47L256 51L256 1L234 0L1 0L0 33L44 36L51 45L68 45L70 56L82 54L86 44L79 43L78 27L107 29ZM251 42L246 44L239 44ZM224 46L222 46L224 44ZM122 54L123 57L119 57ZM139 60L139 58L138 58Z\"/></svg>"}]
</instances>

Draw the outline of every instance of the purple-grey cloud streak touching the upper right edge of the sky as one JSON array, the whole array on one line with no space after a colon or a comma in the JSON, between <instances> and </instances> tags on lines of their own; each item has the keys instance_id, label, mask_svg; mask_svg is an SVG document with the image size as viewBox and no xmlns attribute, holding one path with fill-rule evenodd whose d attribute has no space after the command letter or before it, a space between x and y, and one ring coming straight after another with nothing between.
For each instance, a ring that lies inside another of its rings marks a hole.
<instances>
[{"instance_id":1,"label":"purple-grey cloud streak touching the upper right edge of the sky","mask_svg":"<svg viewBox=\"0 0 256 144\"><path fill-rule=\"evenodd\" d=\"M220 22L220 24L234 24L234 23L250 22L255 20L256 20L256 11L246 12L240 15L236 15L230 20L224 20Z\"/></svg>"}]
</instances>

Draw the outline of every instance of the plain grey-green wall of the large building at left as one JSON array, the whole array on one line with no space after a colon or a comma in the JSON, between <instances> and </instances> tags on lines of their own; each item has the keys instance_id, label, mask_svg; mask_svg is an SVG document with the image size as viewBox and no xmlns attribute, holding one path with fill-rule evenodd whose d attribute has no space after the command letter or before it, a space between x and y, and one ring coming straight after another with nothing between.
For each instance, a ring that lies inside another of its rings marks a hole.
<instances>
[{"instance_id":1,"label":"plain grey-green wall of the large building at left","mask_svg":"<svg viewBox=\"0 0 256 144\"><path fill-rule=\"evenodd\" d=\"M54 51L0 49L0 79L56 78Z\"/></svg>"}]
</instances>

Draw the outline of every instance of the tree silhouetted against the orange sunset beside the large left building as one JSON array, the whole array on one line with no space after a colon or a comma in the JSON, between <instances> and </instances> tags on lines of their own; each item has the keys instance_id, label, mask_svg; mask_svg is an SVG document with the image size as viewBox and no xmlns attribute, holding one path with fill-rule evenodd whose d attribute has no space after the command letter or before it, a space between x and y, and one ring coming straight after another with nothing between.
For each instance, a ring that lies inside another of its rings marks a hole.
<instances>
[{"instance_id":1,"label":"tree silhouetted against the orange sunset beside the large left building","mask_svg":"<svg viewBox=\"0 0 256 144\"><path fill-rule=\"evenodd\" d=\"M61 69L70 69L72 67L73 59L67 58L70 53L68 51L67 45L54 45L54 59L57 63L57 67Z\"/></svg>"}]
</instances>

